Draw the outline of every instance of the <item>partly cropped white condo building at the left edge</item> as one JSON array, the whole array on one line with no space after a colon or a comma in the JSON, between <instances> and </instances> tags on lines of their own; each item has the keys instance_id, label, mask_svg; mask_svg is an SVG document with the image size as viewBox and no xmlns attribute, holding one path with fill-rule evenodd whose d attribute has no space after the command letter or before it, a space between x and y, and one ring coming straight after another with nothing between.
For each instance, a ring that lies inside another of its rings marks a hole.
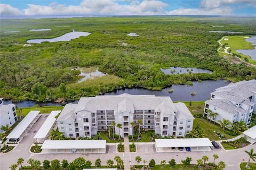
<instances>
[{"instance_id":1,"label":"partly cropped white condo building at the left edge","mask_svg":"<svg viewBox=\"0 0 256 170\"><path fill-rule=\"evenodd\" d=\"M0 128L5 125L12 126L18 120L15 105L14 104L3 104L3 99L0 98ZM4 131L0 129L0 133Z\"/></svg>"}]
</instances>

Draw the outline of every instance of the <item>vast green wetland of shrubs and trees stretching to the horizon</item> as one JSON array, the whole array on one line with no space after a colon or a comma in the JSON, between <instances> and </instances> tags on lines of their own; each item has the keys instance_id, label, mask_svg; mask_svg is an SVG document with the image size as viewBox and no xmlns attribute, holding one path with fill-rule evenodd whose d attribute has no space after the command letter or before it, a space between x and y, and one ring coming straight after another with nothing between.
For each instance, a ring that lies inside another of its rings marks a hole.
<instances>
[{"instance_id":1,"label":"vast green wetland of shrubs and trees stretching to the horizon","mask_svg":"<svg viewBox=\"0 0 256 170\"><path fill-rule=\"evenodd\" d=\"M213 28L221 24L223 28ZM70 27L58 27L69 25ZM51 31L29 31L47 28ZM3 19L0 24L0 96L21 101L76 100L120 88L161 90L188 81L225 78L256 79L256 68L230 64L218 55L219 40L241 31L256 35L252 18L136 16L63 19ZM91 34L71 41L23 46L29 39L53 38L64 33ZM4 31L20 31L4 33ZM139 37L129 37L135 32ZM126 43L127 46L124 46ZM199 67L208 73L166 75L160 68ZM80 67L108 75L77 83Z\"/></svg>"}]
</instances>

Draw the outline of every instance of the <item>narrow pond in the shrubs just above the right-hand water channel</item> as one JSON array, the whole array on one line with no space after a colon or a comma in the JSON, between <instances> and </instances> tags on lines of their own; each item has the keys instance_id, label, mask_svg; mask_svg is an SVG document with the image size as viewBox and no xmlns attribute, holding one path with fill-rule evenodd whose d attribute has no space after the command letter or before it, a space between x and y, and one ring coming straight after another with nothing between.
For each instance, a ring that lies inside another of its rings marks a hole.
<instances>
[{"instance_id":1,"label":"narrow pond in the shrubs just above the right-hand water channel","mask_svg":"<svg viewBox=\"0 0 256 170\"><path fill-rule=\"evenodd\" d=\"M209 73L211 74L212 71L207 69L198 69L197 67L170 67L170 69L163 69L160 68L161 71L165 74L185 74L185 73Z\"/></svg>"}]
</instances>

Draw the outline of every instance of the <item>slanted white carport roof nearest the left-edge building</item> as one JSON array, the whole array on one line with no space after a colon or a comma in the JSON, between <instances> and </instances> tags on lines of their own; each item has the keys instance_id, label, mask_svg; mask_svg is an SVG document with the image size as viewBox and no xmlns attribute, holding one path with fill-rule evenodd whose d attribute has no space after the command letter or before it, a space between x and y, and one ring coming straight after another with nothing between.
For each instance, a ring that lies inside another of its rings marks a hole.
<instances>
[{"instance_id":1,"label":"slanted white carport roof nearest the left-edge building","mask_svg":"<svg viewBox=\"0 0 256 170\"><path fill-rule=\"evenodd\" d=\"M28 128L28 125L35 119L40 111L30 111L25 118L7 135L7 139L17 139Z\"/></svg>"}]
</instances>

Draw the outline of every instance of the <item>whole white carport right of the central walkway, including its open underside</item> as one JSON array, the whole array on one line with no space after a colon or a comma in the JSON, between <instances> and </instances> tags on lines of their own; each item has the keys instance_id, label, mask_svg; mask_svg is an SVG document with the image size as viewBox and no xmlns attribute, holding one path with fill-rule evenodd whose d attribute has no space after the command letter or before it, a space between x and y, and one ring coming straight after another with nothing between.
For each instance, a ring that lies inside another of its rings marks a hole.
<instances>
[{"instance_id":1,"label":"whole white carport right of the central walkway, including its open underside","mask_svg":"<svg viewBox=\"0 0 256 170\"><path fill-rule=\"evenodd\" d=\"M157 152L180 152L178 147L190 147L191 151L211 151L209 138L156 139ZM174 149L173 149L174 148ZM186 149L184 150L186 152Z\"/></svg>"}]
</instances>

